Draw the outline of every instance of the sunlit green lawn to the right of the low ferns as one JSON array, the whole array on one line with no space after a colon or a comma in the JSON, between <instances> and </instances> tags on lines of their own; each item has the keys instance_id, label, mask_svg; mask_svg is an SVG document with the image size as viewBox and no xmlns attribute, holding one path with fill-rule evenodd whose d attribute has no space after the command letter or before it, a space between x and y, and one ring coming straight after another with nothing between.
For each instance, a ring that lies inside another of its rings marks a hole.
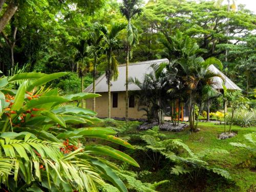
<instances>
[{"instance_id":1,"label":"sunlit green lawn to the right of the low ferns","mask_svg":"<svg viewBox=\"0 0 256 192\"><path fill-rule=\"evenodd\" d=\"M255 132L256 127L241 128L239 126L232 126L232 131L237 132L238 135L233 138L219 140L218 135L224 130L224 125L215 125L214 123L199 123L201 129L198 133L189 134L188 130L180 133L162 132L169 138L179 138L186 143L194 153L200 153L203 150L211 148L219 148L227 150L229 154L211 155L207 157L209 164L219 166L220 168L228 170L232 180L238 185L237 191L247 191L249 188L254 188L251 191L256 191L256 172L249 168L240 168L238 164L248 158L248 152L242 148L230 145L230 142L247 143L244 134ZM228 191L225 189L225 191ZM234 191L230 188L230 191ZM236 191L236 190L235 190ZM250 190L249 190L250 191Z\"/></svg>"}]
</instances>

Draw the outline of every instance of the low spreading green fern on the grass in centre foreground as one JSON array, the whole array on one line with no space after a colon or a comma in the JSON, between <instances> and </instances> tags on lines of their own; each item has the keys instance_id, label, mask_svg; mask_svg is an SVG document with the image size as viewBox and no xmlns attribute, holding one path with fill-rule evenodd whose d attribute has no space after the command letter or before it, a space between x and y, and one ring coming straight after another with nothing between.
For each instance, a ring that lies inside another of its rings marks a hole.
<instances>
[{"instance_id":1,"label":"low spreading green fern on the grass in centre foreground","mask_svg":"<svg viewBox=\"0 0 256 192\"><path fill-rule=\"evenodd\" d=\"M208 166L208 163L202 160L209 154L228 153L227 151L212 149L196 155L182 140L166 139L166 136L159 132L158 126L154 126L145 133L140 137L146 144L136 146L136 148L143 151L150 158L155 166L155 170L158 169L162 159L167 159L176 164L170 170L171 174L188 174L191 181L195 181L202 170L230 179L229 173L226 170Z\"/></svg>"}]
</instances>

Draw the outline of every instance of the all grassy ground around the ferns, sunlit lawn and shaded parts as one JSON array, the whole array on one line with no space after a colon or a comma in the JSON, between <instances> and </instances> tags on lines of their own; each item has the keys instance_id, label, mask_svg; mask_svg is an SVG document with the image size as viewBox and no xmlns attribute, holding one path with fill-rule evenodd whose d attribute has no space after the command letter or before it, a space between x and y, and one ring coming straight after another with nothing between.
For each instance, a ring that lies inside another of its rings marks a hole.
<instances>
[{"instance_id":1,"label":"all grassy ground around the ferns, sunlit lawn and shaded parts","mask_svg":"<svg viewBox=\"0 0 256 192\"><path fill-rule=\"evenodd\" d=\"M114 120L107 120L100 124L100 126L118 127L117 129L120 131L119 137L130 139L130 142L136 145L140 144L136 135L144 133L144 131L136 130L138 125L139 122L130 122L129 126L126 126L125 122ZM138 153L138 151L134 150L125 150L125 153L131 155L140 164L140 168L129 167L130 170L137 173L146 172L146 174L139 174L139 179L142 182L154 183L162 180L170 180L169 183L160 185L157 188L158 191L255 191L256 172L253 171L254 169L240 166L241 162L248 159L248 151L232 146L229 143L247 143L244 135L253 131L255 132L256 127L241 128L239 126L232 126L232 131L238 135L225 140L218 139L218 135L224 130L224 125L200 122L199 128L201 131L193 134L189 132L188 128L178 133L166 131L162 131L161 133L165 134L167 139L181 139L197 154L216 148L228 151L228 154L209 154L204 160L209 163L209 166L227 170L232 177L231 180L225 180L217 174L203 170L199 174L196 182L191 182L186 175L171 175L170 169L175 164L168 160L162 159L159 169L156 170L145 154ZM94 140L90 142L99 141ZM120 147L119 150L122 151L124 148Z\"/></svg>"}]
</instances>

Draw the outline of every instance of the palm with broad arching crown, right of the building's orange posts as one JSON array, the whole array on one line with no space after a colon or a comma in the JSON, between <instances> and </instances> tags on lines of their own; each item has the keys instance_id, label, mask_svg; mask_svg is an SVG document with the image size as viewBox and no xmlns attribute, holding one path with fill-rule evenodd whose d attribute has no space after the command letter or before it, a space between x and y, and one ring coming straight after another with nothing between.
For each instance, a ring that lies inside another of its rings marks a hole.
<instances>
[{"instance_id":1,"label":"palm with broad arching crown, right of the building's orange posts","mask_svg":"<svg viewBox=\"0 0 256 192\"><path fill-rule=\"evenodd\" d=\"M195 132L195 104L198 101L198 103L200 103L199 107L202 108L202 97L204 97L205 94L208 93L209 88L215 84L213 78L222 78L220 74L209 71L208 67L211 64L216 64L222 68L222 63L214 57L204 60L202 57L193 55L187 59L179 59L179 64L186 74L183 79L188 91L189 125L191 131Z\"/></svg>"}]
</instances>

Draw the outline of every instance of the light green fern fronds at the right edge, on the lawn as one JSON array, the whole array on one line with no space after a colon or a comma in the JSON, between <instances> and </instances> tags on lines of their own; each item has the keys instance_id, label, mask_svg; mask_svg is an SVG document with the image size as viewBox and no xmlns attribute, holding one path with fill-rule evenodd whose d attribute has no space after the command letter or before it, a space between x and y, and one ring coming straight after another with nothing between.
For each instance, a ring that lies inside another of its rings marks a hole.
<instances>
[{"instance_id":1,"label":"light green fern fronds at the right edge, on the lawn","mask_svg":"<svg viewBox=\"0 0 256 192\"><path fill-rule=\"evenodd\" d=\"M256 133L248 133L244 135L244 138L248 140L248 143L231 142L230 144L237 147L246 148L249 151L249 158L242 162L243 167L255 167L256 166Z\"/></svg>"}]
</instances>

